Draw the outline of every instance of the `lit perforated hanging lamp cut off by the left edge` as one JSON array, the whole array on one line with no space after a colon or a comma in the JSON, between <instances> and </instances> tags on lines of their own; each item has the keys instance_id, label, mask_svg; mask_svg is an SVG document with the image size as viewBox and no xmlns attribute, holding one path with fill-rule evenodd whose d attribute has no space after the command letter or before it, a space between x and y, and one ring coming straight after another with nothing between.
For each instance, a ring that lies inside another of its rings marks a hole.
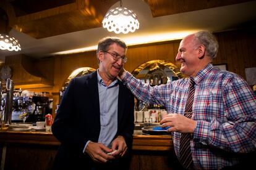
<instances>
[{"instance_id":1,"label":"lit perforated hanging lamp cut off by the left edge","mask_svg":"<svg viewBox=\"0 0 256 170\"><path fill-rule=\"evenodd\" d=\"M0 33L0 49L8 51L20 51L21 47L19 41L8 34Z\"/></svg>"}]
</instances>

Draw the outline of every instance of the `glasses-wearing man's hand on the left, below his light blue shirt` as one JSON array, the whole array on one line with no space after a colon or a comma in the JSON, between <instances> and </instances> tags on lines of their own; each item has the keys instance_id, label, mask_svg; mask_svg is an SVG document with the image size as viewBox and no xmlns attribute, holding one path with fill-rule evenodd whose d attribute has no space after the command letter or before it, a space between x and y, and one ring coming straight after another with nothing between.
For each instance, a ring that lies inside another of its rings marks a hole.
<instances>
[{"instance_id":1,"label":"glasses-wearing man's hand on the left, below his light blue shirt","mask_svg":"<svg viewBox=\"0 0 256 170\"><path fill-rule=\"evenodd\" d=\"M85 148L85 152L97 163L106 163L114 159L114 156L107 154L113 150L100 143L90 142Z\"/></svg>"}]
</instances>

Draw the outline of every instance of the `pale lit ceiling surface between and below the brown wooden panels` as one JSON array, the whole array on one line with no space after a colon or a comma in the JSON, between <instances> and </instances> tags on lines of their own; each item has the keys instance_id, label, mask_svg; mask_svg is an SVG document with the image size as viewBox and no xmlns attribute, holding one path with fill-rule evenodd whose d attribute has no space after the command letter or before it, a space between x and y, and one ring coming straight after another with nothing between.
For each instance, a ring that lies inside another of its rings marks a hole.
<instances>
[{"instance_id":1,"label":"pale lit ceiling surface between and below the brown wooden panels","mask_svg":"<svg viewBox=\"0 0 256 170\"><path fill-rule=\"evenodd\" d=\"M118 6L119 2L114 4L113 7ZM51 56L56 52L72 49L92 46L95 48L97 42L105 36L119 36L124 39L127 44L134 44L132 41L134 39L142 40L147 37L148 39L145 40L145 42L155 41L153 38L161 38L162 36L163 41L173 39L174 33L184 33L184 35L186 35L187 33L197 30L219 32L233 30L247 25L248 23L255 26L256 19L256 1L156 18L151 16L149 6L142 0L123 0L122 6L134 10L137 14L140 28L134 33L109 33L101 27L48 38L35 39L27 34L12 29L9 34L19 40L22 51L9 52L1 50L0 62L4 62L5 57L8 55L25 54L38 58Z\"/></svg>"}]
</instances>

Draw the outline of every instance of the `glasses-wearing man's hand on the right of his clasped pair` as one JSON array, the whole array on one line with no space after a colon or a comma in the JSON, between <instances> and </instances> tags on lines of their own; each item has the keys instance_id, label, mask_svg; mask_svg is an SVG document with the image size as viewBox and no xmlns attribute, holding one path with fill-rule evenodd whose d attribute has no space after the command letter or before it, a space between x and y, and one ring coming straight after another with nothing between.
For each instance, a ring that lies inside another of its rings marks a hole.
<instances>
[{"instance_id":1,"label":"glasses-wearing man's hand on the right of his clasped pair","mask_svg":"<svg viewBox=\"0 0 256 170\"><path fill-rule=\"evenodd\" d=\"M124 140L124 137L122 136L117 136L116 139L113 140L112 142L112 149L116 150L112 155L115 157L122 157L127 151L127 145L126 145L126 140Z\"/></svg>"}]
</instances>

